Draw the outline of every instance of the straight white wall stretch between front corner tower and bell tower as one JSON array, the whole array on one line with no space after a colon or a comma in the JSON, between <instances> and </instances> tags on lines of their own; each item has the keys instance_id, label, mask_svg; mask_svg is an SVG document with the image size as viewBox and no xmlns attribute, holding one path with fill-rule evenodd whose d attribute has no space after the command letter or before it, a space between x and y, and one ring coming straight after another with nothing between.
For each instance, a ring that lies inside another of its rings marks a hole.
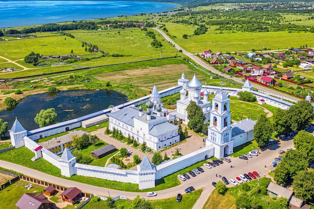
<instances>
[{"instance_id":1,"label":"straight white wall stretch between front corner tower and bell tower","mask_svg":"<svg viewBox=\"0 0 314 209\"><path fill-rule=\"evenodd\" d=\"M173 160L156 165L156 179L163 178L199 161L214 156L214 147L207 146Z\"/></svg>"}]
</instances>

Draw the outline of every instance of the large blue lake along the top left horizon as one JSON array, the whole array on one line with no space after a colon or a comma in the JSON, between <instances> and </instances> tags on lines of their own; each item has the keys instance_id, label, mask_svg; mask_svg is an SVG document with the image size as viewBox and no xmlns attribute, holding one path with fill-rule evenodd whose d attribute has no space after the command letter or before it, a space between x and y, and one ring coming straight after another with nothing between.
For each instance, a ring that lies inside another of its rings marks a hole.
<instances>
[{"instance_id":1,"label":"large blue lake along the top left horizon","mask_svg":"<svg viewBox=\"0 0 314 209\"><path fill-rule=\"evenodd\" d=\"M158 13L175 4L119 1L0 1L0 28Z\"/></svg>"}]
</instances>

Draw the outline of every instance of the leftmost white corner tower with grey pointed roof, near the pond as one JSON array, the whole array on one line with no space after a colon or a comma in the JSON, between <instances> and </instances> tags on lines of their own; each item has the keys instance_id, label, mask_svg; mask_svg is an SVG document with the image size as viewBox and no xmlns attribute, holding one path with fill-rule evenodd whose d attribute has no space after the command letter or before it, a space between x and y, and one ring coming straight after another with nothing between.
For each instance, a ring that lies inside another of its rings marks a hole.
<instances>
[{"instance_id":1,"label":"leftmost white corner tower with grey pointed roof, near the pond","mask_svg":"<svg viewBox=\"0 0 314 209\"><path fill-rule=\"evenodd\" d=\"M15 146L15 148L19 148L25 145L24 143L24 136L27 136L27 130L21 125L18 118L15 118L14 124L9 130L11 144Z\"/></svg>"}]
</instances>

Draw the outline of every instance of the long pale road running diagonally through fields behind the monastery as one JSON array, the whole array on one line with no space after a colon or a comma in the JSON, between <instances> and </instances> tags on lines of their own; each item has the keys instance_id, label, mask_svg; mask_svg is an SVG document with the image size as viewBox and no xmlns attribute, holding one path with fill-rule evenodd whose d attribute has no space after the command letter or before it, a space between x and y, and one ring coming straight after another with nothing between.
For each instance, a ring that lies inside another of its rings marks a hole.
<instances>
[{"instance_id":1,"label":"long pale road running diagonally through fields behind the monastery","mask_svg":"<svg viewBox=\"0 0 314 209\"><path fill-rule=\"evenodd\" d=\"M230 80L234 80L234 81L237 81L239 83L243 83L244 82L242 81L243 79L239 79L239 78L230 78L229 75L226 75L226 74L221 74L220 71L212 68L211 66L207 65L206 63L204 63L202 60L200 60L199 58L195 57L193 54L187 52L186 50L182 49L180 46L178 46L178 44L176 44L172 39L170 39L163 31L159 30L158 28L154 28L154 30L158 31L167 41L171 42L173 45L175 45L176 49L178 50L182 50L182 53L185 54L187 57L189 57L191 60L193 60L194 62L196 62L197 64L199 64L200 66L202 66L203 68L213 72L213 73L216 73L218 75L220 75L221 77L224 77L224 78L228 78ZM271 93L271 94L276 94L276 95L279 95L279 96L282 96L282 97L286 97L286 98L290 98L293 100L300 100L298 98L295 98L295 97L291 97L289 95L286 95L286 94L282 94L280 92L277 92L277 91L274 91L274 90L271 90L269 88L266 88L266 87L263 87L263 86L260 86L260 85L257 85L255 83L251 83L252 86L254 88L257 88L257 89L260 89L262 91L265 91L265 92L268 92L268 93Z\"/></svg>"}]
</instances>

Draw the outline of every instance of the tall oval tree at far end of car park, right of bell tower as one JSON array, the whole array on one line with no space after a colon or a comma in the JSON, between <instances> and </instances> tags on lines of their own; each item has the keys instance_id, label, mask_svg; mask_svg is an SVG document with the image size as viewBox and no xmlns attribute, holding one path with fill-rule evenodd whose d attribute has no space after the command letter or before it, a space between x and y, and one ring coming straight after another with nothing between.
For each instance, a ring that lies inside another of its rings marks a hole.
<instances>
[{"instance_id":1,"label":"tall oval tree at far end of car park, right of bell tower","mask_svg":"<svg viewBox=\"0 0 314 209\"><path fill-rule=\"evenodd\" d=\"M261 115L254 125L254 138L259 147L268 143L271 134L273 132L273 126L265 115Z\"/></svg>"}]
</instances>

